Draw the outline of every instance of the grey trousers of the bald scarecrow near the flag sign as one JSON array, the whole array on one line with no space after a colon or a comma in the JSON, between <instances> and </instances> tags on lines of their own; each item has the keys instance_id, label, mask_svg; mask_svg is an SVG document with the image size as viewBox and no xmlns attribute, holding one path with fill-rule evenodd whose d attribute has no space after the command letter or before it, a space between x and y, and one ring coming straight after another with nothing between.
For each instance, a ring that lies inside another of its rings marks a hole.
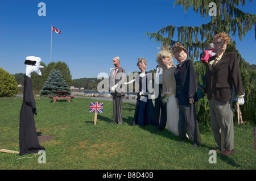
<instances>
[{"instance_id":1,"label":"grey trousers of the bald scarecrow near the flag sign","mask_svg":"<svg viewBox=\"0 0 256 181\"><path fill-rule=\"evenodd\" d=\"M123 96L113 95L113 122L119 125L123 123L122 100Z\"/></svg>"}]
</instances>

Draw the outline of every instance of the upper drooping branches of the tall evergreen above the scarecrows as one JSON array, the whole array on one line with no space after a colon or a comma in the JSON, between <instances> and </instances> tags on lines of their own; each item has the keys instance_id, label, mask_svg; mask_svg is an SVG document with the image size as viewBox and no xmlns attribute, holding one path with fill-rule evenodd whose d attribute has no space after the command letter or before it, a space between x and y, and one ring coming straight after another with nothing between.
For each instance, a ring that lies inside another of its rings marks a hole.
<instances>
[{"instance_id":1,"label":"upper drooping branches of the tall evergreen above the scarecrows","mask_svg":"<svg viewBox=\"0 0 256 181\"><path fill-rule=\"evenodd\" d=\"M232 33L232 35L238 36L242 40L243 36L249 30L253 30L256 24L256 15L241 11L237 6L245 5L246 0L240 1L220 1L220 0L177 0L174 3L184 8L185 13L188 9L193 7L195 12L200 12L201 17L209 17L209 3L214 2L217 6L216 16L210 16L210 21L207 24L201 24L198 27L181 26L176 27L169 25L161 28L158 32L145 33L150 39L155 39L162 43L168 43L174 45L176 41L174 38L175 32L177 32L178 40L183 43L184 47L188 49L189 58L193 60L198 59L200 52L207 49L209 41L213 39L214 34L218 32ZM251 1L250 1L251 2ZM255 30L254 30L255 31ZM256 31L255 31L256 39Z\"/></svg>"}]
</instances>

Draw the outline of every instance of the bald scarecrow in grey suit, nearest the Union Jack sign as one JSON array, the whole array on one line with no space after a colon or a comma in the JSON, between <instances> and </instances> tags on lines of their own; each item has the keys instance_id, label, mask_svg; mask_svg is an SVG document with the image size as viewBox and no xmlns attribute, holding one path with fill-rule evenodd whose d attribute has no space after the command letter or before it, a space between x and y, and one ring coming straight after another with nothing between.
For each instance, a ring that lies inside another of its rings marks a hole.
<instances>
[{"instance_id":1,"label":"bald scarecrow in grey suit, nearest the Union Jack sign","mask_svg":"<svg viewBox=\"0 0 256 181\"><path fill-rule=\"evenodd\" d=\"M122 99L125 96L125 86L123 83L126 82L125 69L120 66L120 58L113 58L114 69L110 71L109 76L109 89L110 94L113 96L113 122L119 125L123 124L122 119Z\"/></svg>"}]
</instances>

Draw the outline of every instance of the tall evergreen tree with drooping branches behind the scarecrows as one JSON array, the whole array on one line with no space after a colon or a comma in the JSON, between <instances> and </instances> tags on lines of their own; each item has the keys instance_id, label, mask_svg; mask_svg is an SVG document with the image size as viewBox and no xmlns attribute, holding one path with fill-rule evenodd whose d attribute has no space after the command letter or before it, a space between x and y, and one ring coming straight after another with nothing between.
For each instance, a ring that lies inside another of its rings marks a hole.
<instances>
[{"instance_id":1,"label":"tall evergreen tree with drooping branches behind the scarecrows","mask_svg":"<svg viewBox=\"0 0 256 181\"><path fill-rule=\"evenodd\" d=\"M209 42L213 40L213 36L216 33L226 32L233 36L238 33L239 39L242 41L243 36L245 36L249 30L253 30L254 26L256 39L256 15L243 12L237 7L239 5L244 6L245 3L246 0L176 0L174 5L183 7L185 13L187 13L189 8L193 7L193 11L200 12L201 17L208 18L210 16L210 22L201 24L199 27L176 27L169 25L161 28L156 33L147 32L145 35L150 37L150 39L155 39L155 41L164 44L168 43L171 47L177 41L180 41L189 52L188 58L192 61L195 58L198 60L199 57L203 55L204 50L207 49ZM209 12L209 10L215 5L216 14L214 14L214 11L213 14L211 14L212 12ZM177 41L173 40L175 32L177 32ZM241 57L241 54L236 49L235 41L232 41L232 44L228 45L226 52L237 52L238 54L238 63L240 65L243 90L245 92L245 104L241 106L241 111L243 119L254 121L255 124L255 71L251 71L247 68L247 62ZM207 65L204 64L204 62L196 61L194 63L197 82L199 82L199 85L201 86L204 85L206 67ZM196 105L197 113L201 116L201 120L208 121L209 123L210 113L207 98L203 96Z\"/></svg>"}]
</instances>

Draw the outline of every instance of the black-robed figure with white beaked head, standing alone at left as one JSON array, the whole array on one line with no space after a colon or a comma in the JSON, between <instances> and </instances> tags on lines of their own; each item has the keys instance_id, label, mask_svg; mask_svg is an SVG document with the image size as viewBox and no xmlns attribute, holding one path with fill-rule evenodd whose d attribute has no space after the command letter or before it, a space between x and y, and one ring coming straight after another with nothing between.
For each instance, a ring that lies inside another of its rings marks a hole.
<instances>
[{"instance_id":1,"label":"black-robed figure with white beaked head, standing alone at left","mask_svg":"<svg viewBox=\"0 0 256 181\"><path fill-rule=\"evenodd\" d=\"M40 146L38 136L36 135L34 114L36 113L36 104L32 92L32 81L30 74L35 72L42 75L40 69L41 58L30 56L26 58L26 75L24 75L23 102L19 117L19 155L38 153L39 150L45 150Z\"/></svg>"}]
</instances>

